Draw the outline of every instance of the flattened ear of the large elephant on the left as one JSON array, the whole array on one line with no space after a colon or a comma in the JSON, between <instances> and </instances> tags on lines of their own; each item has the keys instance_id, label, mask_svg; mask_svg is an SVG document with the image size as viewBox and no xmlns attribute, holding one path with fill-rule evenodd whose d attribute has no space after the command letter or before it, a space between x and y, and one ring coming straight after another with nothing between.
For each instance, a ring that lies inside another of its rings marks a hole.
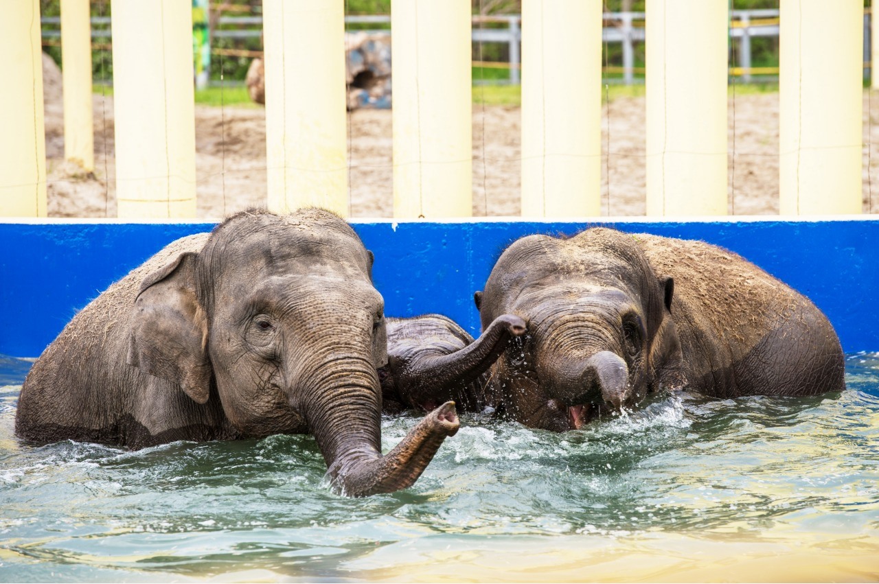
<instances>
[{"instance_id":1,"label":"flattened ear of the large elephant on the left","mask_svg":"<svg viewBox=\"0 0 879 584\"><path fill-rule=\"evenodd\" d=\"M129 365L180 386L207 402L212 369L207 358L207 319L195 296L195 259L187 252L143 280L134 301Z\"/></svg>"}]
</instances>

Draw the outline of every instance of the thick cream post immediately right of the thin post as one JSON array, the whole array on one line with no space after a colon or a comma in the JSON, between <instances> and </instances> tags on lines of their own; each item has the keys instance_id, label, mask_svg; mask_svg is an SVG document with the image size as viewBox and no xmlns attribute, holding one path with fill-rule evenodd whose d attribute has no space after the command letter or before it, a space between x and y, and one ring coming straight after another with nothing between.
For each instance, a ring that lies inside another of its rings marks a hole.
<instances>
[{"instance_id":1,"label":"thick cream post immediately right of the thin post","mask_svg":"<svg viewBox=\"0 0 879 584\"><path fill-rule=\"evenodd\" d=\"M113 0L120 217L195 217L193 8Z\"/></svg>"}]
</instances>

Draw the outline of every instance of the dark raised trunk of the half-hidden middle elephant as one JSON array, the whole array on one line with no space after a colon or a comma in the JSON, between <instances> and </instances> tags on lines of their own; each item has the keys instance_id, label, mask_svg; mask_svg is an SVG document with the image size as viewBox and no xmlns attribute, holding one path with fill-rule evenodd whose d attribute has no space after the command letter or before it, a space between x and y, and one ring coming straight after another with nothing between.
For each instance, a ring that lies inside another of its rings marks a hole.
<instances>
[{"instance_id":1,"label":"dark raised trunk of the half-hidden middle elephant","mask_svg":"<svg viewBox=\"0 0 879 584\"><path fill-rule=\"evenodd\" d=\"M525 321L513 314L502 314L491 322L476 341L446 355L424 354L408 364L406 376L412 386L411 400L423 403L453 384L466 385L477 379L504 352L514 336L525 333Z\"/></svg>"}]
</instances>

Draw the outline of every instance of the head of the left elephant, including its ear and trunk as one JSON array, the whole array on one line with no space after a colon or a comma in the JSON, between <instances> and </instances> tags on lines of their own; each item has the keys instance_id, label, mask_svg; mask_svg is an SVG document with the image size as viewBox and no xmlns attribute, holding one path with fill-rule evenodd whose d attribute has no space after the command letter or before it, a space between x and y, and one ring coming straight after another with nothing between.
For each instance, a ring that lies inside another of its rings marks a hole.
<instances>
[{"instance_id":1,"label":"head of the left elephant, including its ear and trunk","mask_svg":"<svg viewBox=\"0 0 879 584\"><path fill-rule=\"evenodd\" d=\"M243 436L313 434L345 494L409 487L458 420L454 404L438 407L381 456L387 340L372 262L332 213L239 213L143 281L128 363L194 402L220 400Z\"/></svg>"}]
</instances>

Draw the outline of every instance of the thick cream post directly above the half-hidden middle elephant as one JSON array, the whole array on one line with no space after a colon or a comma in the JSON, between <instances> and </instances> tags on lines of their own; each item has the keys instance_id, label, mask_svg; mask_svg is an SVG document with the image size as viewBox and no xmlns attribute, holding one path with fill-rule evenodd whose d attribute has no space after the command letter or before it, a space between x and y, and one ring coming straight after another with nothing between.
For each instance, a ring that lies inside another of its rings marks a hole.
<instances>
[{"instance_id":1,"label":"thick cream post directly above the half-hidden middle elephant","mask_svg":"<svg viewBox=\"0 0 879 584\"><path fill-rule=\"evenodd\" d=\"M391 0L394 216L473 213L469 0Z\"/></svg>"}]
</instances>

